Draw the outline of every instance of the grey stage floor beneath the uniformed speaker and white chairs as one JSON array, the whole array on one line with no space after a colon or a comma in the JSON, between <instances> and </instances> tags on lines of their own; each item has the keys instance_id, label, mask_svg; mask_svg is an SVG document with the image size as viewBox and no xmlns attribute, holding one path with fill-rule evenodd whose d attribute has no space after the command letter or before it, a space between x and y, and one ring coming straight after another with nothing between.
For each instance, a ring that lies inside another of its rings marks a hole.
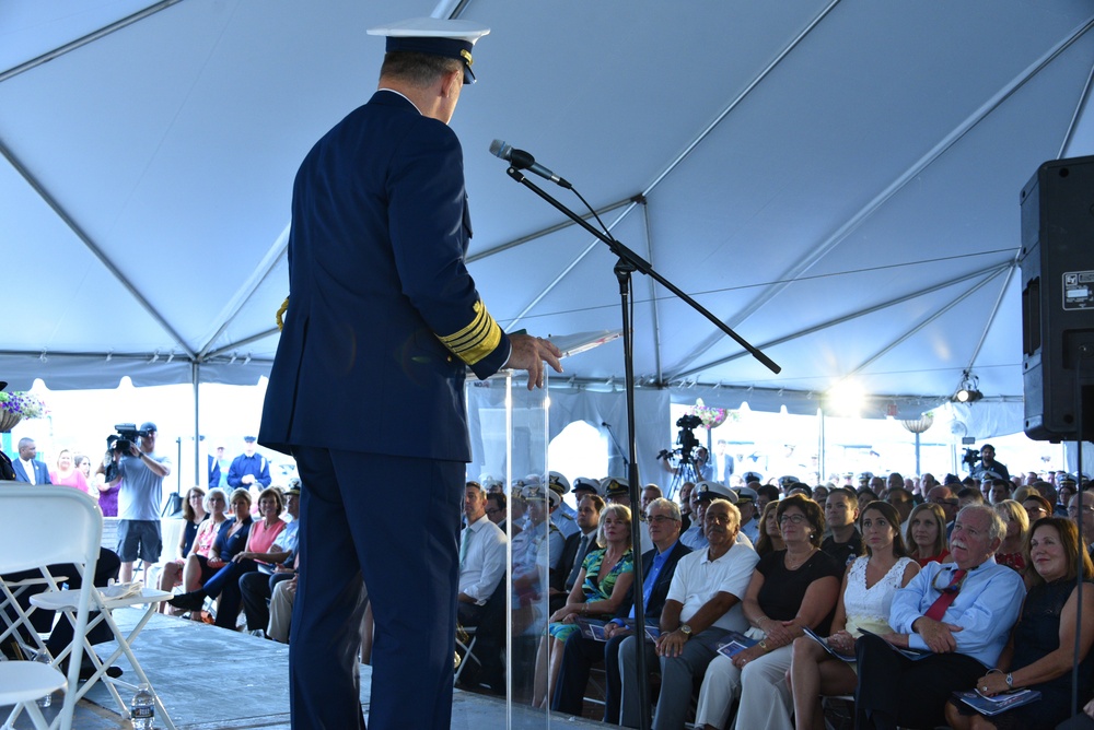
<instances>
[{"instance_id":1,"label":"grey stage floor beneath the uniformed speaker and white chairs","mask_svg":"<svg viewBox=\"0 0 1094 730\"><path fill-rule=\"evenodd\" d=\"M139 620L139 612L125 609L115 612L123 628ZM98 655L105 657L114 644L103 644ZM240 632L229 632L194 621L154 615L133 644L144 673L160 695L171 719L179 730L246 730L264 728L289 730L289 647ZM125 670L123 680L136 675L123 658L117 662ZM369 714L370 667L361 667L361 703ZM128 700L132 692L118 687ZM56 699L59 699L58 695ZM10 708L2 708L0 720ZM53 708L50 708L53 709ZM51 719L56 710L46 710ZM603 728L601 722L554 715L531 708L514 710L513 728L545 727ZM22 715L16 729L33 728ZM78 730L118 730L130 727L121 718L117 704L106 687L96 685L77 706L73 727ZM163 725L158 721L158 728ZM456 690L453 699L452 728L484 730L505 728L505 703Z\"/></svg>"}]
</instances>

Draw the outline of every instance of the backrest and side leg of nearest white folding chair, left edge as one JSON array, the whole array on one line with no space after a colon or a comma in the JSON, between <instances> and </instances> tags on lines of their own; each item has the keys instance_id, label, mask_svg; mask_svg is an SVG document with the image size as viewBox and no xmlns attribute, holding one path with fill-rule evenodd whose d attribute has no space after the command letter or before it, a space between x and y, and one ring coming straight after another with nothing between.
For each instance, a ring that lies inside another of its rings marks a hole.
<instances>
[{"instance_id":1,"label":"backrest and side leg of nearest white folding chair, left edge","mask_svg":"<svg viewBox=\"0 0 1094 730\"><path fill-rule=\"evenodd\" d=\"M83 636L92 604L93 576L103 534L103 514L90 496L70 486L31 486L0 482L0 576L46 565L71 563L83 575L73 622L65 703L51 728L68 730L75 711L77 684L83 658ZM23 709L18 704L9 722ZM33 702L26 707L34 725L40 713ZM5 726L7 727L7 726Z\"/></svg>"}]
</instances>

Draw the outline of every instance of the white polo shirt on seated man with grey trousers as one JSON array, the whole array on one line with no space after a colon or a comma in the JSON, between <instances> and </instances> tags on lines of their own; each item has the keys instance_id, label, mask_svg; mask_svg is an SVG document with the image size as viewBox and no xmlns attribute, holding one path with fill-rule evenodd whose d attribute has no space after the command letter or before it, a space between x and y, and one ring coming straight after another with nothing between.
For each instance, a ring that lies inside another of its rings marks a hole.
<instances>
[{"instance_id":1,"label":"white polo shirt on seated man with grey trousers","mask_svg":"<svg viewBox=\"0 0 1094 730\"><path fill-rule=\"evenodd\" d=\"M759 555L750 545L736 542L728 553L711 562L710 550L688 553L676 564L668 600L684 604L680 622L687 623L715 593L726 592L744 600ZM748 621L741 608L742 601L723 613L713 623L729 631L748 631Z\"/></svg>"}]
</instances>

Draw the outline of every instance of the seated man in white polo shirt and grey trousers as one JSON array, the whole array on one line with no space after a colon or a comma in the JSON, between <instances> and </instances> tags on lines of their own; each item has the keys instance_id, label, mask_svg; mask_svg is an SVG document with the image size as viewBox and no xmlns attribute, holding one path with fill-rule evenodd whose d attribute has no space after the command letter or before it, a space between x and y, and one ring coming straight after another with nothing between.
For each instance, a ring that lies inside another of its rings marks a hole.
<instances>
[{"instance_id":1,"label":"seated man in white polo shirt and grey trousers","mask_svg":"<svg viewBox=\"0 0 1094 730\"><path fill-rule=\"evenodd\" d=\"M677 564L661 612L661 635L656 643L643 641L648 671L656 663L661 668L655 730L684 727L695 681L719 656L719 643L728 632L748 628L741 599L759 556L747 543L737 542L741 514L731 502L711 502L703 520L709 544ZM644 710L639 704L638 645L638 637L631 636L619 649L621 725L628 728L639 727Z\"/></svg>"}]
</instances>

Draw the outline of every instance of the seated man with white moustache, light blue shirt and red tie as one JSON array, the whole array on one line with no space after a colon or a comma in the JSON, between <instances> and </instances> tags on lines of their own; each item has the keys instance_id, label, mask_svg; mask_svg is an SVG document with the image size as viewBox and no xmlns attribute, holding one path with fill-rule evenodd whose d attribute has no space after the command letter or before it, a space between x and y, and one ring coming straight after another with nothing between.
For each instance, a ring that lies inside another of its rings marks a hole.
<instances>
[{"instance_id":1,"label":"seated man with white moustache, light blue shirt and red tie","mask_svg":"<svg viewBox=\"0 0 1094 730\"><path fill-rule=\"evenodd\" d=\"M993 558L1005 529L991 507L961 510L950 538L954 563L923 566L893 599L894 633L856 643L857 728L938 727L951 694L996 666L1025 594L1021 576ZM886 639L931 654L911 660Z\"/></svg>"}]
</instances>

